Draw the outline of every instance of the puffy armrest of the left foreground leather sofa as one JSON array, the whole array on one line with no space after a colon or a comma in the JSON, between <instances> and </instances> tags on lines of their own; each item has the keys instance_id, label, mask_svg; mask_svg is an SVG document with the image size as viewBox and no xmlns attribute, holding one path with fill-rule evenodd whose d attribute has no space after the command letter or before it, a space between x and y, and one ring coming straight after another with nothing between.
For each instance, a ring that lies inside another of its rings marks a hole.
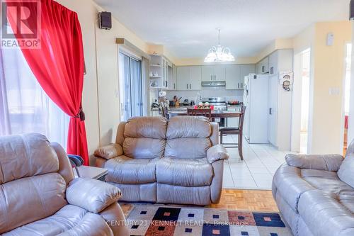
<instances>
[{"instance_id":1,"label":"puffy armrest of the left foreground leather sofa","mask_svg":"<svg viewBox=\"0 0 354 236\"><path fill-rule=\"evenodd\" d=\"M101 212L110 204L117 202L120 196L120 189L117 187L88 178L72 180L66 193L69 204L89 210L91 213Z\"/></svg>"}]
</instances>

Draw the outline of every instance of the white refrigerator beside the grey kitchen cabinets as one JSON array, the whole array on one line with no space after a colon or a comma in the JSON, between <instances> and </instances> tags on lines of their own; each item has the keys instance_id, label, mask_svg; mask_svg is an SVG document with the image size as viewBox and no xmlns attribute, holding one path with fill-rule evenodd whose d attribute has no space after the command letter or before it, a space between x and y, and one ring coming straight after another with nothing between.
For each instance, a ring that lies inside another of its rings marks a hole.
<instances>
[{"instance_id":1,"label":"white refrigerator beside the grey kitchen cabinets","mask_svg":"<svg viewBox=\"0 0 354 236\"><path fill-rule=\"evenodd\" d=\"M249 143L268 143L268 77L249 74L244 79L244 137Z\"/></svg>"}]
</instances>

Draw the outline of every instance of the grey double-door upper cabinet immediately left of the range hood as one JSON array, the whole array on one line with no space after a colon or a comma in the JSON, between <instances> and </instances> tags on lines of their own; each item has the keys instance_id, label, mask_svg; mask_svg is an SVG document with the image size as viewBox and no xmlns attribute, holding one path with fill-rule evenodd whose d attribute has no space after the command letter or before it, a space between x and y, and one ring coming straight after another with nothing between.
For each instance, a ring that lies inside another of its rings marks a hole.
<instances>
[{"instance_id":1,"label":"grey double-door upper cabinet immediately left of the range hood","mask_svg":"<svg viewBox=\"0 0 354 236\"><path fill-rule=\"evenodd\" d=\"M200 66L177 67L177 90L201 90L201 80Z\"/></svg>"}]
</instances>

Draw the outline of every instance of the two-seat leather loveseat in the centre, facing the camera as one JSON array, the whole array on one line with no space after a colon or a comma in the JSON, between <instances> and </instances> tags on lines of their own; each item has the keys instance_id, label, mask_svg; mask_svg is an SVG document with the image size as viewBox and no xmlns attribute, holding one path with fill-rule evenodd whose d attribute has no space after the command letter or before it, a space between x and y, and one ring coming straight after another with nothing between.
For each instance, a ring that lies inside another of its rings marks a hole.
<instances>
[{"instance_id":1,"label":"two-seat leather loveseat in the centre, facing the camera","mask_svg":"<svg viewBox=\"0 0 354 236\"><path fill-rule=\"evenodd\" d=\"M131 118L118 125L115 143L96 150L96 165L108 169L122 201L218 203L229 157L218 133L205 117Z\"/></svg>"}]
</instances>

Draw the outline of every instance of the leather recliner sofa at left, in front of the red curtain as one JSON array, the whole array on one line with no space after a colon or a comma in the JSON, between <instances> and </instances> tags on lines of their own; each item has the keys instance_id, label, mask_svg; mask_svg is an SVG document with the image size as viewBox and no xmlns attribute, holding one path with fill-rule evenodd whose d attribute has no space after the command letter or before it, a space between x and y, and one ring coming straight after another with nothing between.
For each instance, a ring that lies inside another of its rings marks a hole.
<instances>
[{"instance_id":1,"label":"leather recliner sofa at left, in front of the red curtain","mask_svg":"<svg viewBox=\"0 0 354 236\"><path fill-rule=\"evenodd\" d=\"M0 137L0 235L129 235L120 190L76 178L57 143L31 133Z\"/></svg>"}]
</instances>

